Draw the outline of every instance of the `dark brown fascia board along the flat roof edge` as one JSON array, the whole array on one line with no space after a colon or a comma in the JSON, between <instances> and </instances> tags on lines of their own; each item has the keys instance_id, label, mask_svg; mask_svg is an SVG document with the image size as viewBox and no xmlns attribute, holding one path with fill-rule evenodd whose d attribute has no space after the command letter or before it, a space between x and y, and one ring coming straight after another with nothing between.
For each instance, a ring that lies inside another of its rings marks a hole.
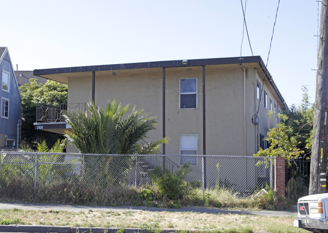
<instances>
[{"instance_id":1,"label":"dark brown fascia board along the flat roof edge","mask_svg":"<svg viewBox=\"0 0 328 233\"><path fill-rule=\"evenodd\" d=\"M126 63L126 64L114 64L114 65L99 65L99 66L84 66L84 67L66 67L66 68L51 68L51 69L41 69L34 70L33 75L53 75L53 74L67 74L67 73L82 73L82 72L92 72L92 71L117 71L117 70L131 70L131 69L146 69L146 68L174 68L174 67L195 67L195 66L207 66L207 65L230 65L230 64L243 64L247 63L258 63L265 73L265 76L270 81L272 87L277 92L281 102L288 109L287 104L280 91L278 90L275 82L268 70L266 69L260 56L243 56L243 57L223 57L214 59L192 59L187 60L188 64L183 65L183 60L175 61L160 61L160 62L144 62L144 63Z\"/></svg>"}]
</instances>

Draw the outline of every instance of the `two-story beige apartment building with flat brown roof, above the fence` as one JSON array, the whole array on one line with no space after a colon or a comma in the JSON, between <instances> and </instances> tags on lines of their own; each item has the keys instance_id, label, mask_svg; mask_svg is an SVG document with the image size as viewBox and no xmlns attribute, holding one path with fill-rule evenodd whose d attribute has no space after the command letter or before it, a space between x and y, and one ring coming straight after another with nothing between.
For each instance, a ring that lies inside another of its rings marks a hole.
<instances>
[{"instance_id":1,"label":"two-story beige apartment building with flat brown roof, above the fence","mask_svg":"<svg viewBox=\"0 0 328 233\"><path fill-rule=\"evenodd\" d=\"M157 115L149 140L170 137L163 154L252 156L288 108L260 56L43 69L34 75L68 84L73 108L91 99L102 107L117 99ZM41 119L35 129L70 128L63 119Z\"/></svg>"}]
</instances>

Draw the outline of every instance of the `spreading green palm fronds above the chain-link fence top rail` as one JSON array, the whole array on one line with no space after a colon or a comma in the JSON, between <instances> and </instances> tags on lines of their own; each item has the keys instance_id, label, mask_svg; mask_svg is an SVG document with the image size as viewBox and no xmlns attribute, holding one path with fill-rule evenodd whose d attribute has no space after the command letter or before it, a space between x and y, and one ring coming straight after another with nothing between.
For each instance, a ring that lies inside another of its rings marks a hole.
<instances>
[{"instance_id":1,"label":"spreading green palm fronds above the chain-link fence top rail","mask_svg":"<svg viewBox=\"0 0 328 233\"><path fill-rule=\"evenodd\" d=\"M124 107L116 100L108 102L105 110L88 103L89 112L67 112L66 121L72 132L66 131L68 142L81 153L90 154L155 154L167 138L144 142L149 131L157 124L155 116L136 110L124 117L129 105Z\"/></svg>"}]
</instances>

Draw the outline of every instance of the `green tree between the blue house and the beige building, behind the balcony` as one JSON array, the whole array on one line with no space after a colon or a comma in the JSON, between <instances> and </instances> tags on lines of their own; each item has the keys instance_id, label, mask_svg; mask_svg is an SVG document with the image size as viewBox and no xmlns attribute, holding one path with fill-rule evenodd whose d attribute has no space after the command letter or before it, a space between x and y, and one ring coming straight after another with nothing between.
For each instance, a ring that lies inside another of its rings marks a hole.
<instances>
[{"instance_id":1,"label":"green tree between the blue house and the beige building, behind the balcony","mask_svg":"<svg viewBox=\"0 0 328 233\"><path fill-rule=\"evenodd\" d=\"M30 79L29 83L20 86L22 95L22 129L21 138L30 147L33 142L45 140L53 145L62 136L56 133L35 130L33 123L36 120L36 105L47 104L58 106L67 103L66 84L48 80L44 85L37 84L37 79Z\"/></svg>"}]
</instances>

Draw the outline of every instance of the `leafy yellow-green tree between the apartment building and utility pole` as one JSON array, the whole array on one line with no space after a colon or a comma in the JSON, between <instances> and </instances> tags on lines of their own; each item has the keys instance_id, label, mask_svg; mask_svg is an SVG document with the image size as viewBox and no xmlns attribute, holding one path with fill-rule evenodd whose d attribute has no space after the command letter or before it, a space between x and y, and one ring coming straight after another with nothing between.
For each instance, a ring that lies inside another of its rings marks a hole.
<instances>
[{"instance_id":1,"label":"leafy yellow-green tree between the apartment building and utility pole","mask_svg":"<svg viewBox=\"0 0 328 233\"><path fill-rule=\"evenodd\" d=\"M309 102L308 90L303 86L303 98L300 106L280 114L281 122L268 131L264 138L269 144L254 156L282 156L286 160L299 156L309 157L312 145L313 104ZM272 114L272 113L271 113Z\"/></svg>"}]
</instances>

